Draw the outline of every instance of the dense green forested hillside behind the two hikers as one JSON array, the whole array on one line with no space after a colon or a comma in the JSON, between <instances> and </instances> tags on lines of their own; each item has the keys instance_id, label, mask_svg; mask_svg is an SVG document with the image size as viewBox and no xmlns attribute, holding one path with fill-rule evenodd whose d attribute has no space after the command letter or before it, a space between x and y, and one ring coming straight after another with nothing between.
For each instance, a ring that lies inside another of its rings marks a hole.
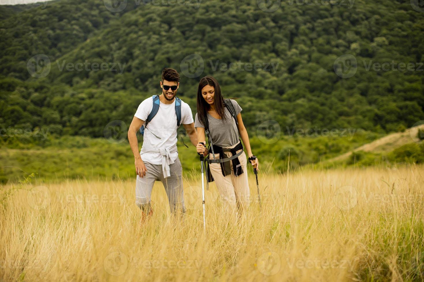
<instances>
[{"instance_id":1,"label":"dense green forested hillside behind the two hikers","mask_svg":"<svg viewBox=\"0 0 424 282\"><path fill-rule=\"evenodd\" d=\"M126 1L115 13L102 1L60 0L3 19L0 127L102 137L110 120L129 124L138 104L160 93L164 67L180 71L178 96L194 113L199 79L216 77L224 96L239 98L253 134L266 134L258 129L266 120L288 134L384 133L424 119L424 13L410 1L283 1L273 12L254 0L168 2ZM48 57L47 74L31 75L34 55ZM89 69L67 70L67 63Z\"/></svg>"}]
</instances>

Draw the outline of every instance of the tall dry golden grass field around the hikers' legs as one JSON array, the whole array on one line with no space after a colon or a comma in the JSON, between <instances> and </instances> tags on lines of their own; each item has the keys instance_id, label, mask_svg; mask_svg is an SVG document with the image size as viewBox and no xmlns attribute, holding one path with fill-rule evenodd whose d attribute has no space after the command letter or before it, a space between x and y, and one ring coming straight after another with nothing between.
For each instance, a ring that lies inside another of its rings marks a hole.
<instances>
[{"instance_id":1,"label":"tall dry golden grass field around the hikers' legs","mask_svg":"<svg viewBox=\"0 0 424 282\"><path fill-rule=\"evenodd\" d=\"M205 191L206 233L200 179L182 221L156 182L142 227L135 180L3 186L0 280L420 281L423 168L259 175L262 207L249 171L238 222Z\"/></svg>"}]
</instances>

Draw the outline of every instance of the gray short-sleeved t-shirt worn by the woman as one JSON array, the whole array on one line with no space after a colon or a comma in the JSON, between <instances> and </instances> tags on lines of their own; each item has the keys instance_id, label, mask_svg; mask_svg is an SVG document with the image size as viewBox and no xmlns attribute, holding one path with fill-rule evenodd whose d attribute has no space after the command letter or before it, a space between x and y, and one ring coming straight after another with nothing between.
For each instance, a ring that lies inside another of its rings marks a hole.
<instances>
[{"instance_id":1,"label":"gray short-sleeved t-shirt worn by the woman","mask_svg":"<svg viewBox=\"0 0 424 282\"><path fill-rule=\"evenodd\" d=\"M236 111L236 115L241 112L242 108L235 100L230 100L234 106L234 110ZM234 146L239 142L239 134L236 122L234 118L231 116L227 107L224 107L224 112L226 116L226 120L216 119L211 115L207 114L209 121L209 133L212 138L212 143L214 145L218 145L220 147L230 147ZM197 116L195 117L194 127L203 127L204 125L201 123L200 119ZM207 136L205 136L207 140Z\"/></svg>"}]
</instances>

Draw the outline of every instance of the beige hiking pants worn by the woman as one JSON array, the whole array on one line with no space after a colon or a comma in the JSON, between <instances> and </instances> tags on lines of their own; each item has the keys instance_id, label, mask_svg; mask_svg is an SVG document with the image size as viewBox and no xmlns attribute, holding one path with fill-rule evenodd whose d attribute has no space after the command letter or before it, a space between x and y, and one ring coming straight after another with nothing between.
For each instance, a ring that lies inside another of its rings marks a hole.
<instances>
[{"instance_id":1,"label":"beige hiking pants worn by the woman","mask_svg":"<svg viewBox=\"0 0 424 282\"><path fill-rule=\"evenodd\" d=\"M236 144L237 145L237 144ZM223 148L234 148L236 145L231 147L223 147ZM242 150L238 150L240 152ZM231 152L224 152L226 157L232 156ZM215 153L215 158L218 159L220 156L219 153ZM213 159L212 153L209 153L209 158ZM215 180L215 184L218 188L218 191L221 196L221 200L227 207L234 210L236 206L243 210L247 208L250 201L250 191L249 191L249 183L247 180L247 157L243 152L240 156L238 156L239 162L243 169L243 173L235 176L233 163L230 161L231 167L231 175L224 176L221 171L221 164L212 163L209 164L209 170L212 173L212 176Z\"/></svg>"}]
</instances>

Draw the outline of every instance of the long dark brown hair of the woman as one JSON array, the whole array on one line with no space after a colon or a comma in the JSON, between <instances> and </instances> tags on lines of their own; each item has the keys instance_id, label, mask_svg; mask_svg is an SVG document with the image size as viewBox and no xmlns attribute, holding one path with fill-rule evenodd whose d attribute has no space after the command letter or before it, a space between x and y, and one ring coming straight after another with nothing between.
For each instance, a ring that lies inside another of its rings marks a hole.
<instances>
[{"instance_id":1,"label":"long dark brown hair of the woman","mask_svg":"<svg viewBox=\"0 0 424 282\"><path fill-rule=\"evenodd\" d=\"M225 111L224 111L224 99L221 95L221 88L219 87L218 81L216 81L215 78L211 76L202 77L199 81L199 87L197 89L197 117L203 124L203 120L206 120L207 118L207 111L209 110L210 106L205 101L205 99L202 96L202 89L206 86L212 86L215 88L215 95L214 95L214 105L216 113L220 116L222 120L226 120Z\"/></svg>"}]
</instances>

